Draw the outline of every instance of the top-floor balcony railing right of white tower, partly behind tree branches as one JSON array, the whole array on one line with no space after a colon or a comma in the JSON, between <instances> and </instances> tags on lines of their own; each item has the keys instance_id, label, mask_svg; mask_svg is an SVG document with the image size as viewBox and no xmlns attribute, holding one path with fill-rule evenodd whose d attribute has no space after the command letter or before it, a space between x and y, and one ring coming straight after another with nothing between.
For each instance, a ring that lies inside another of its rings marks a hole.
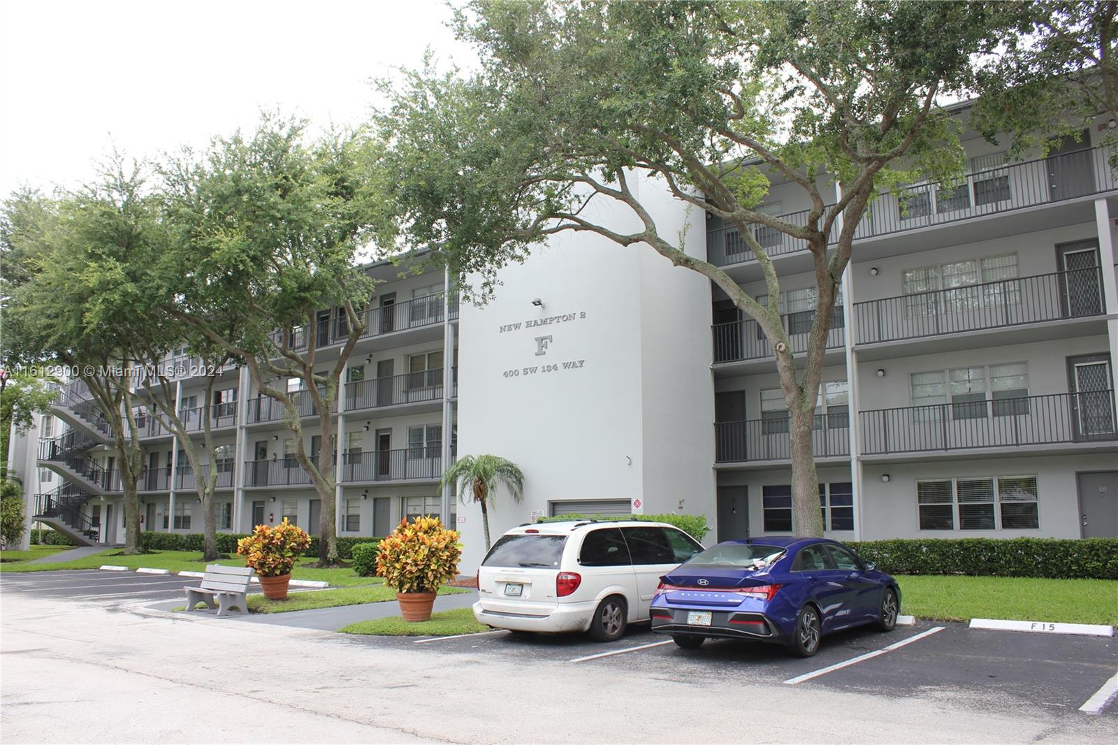
<instances>
[{"instance_id":1,"label":"top-floor balcony railing right of white tower, partly behind tree branches","mask_svg":"<svg viewBox=\"0 0 1118 745\"><path fill-rule=\"evenodd\" d=\"M854 239L1112 191L1118 186L1111 179L1108 158L1109 149L1093 148L969 171L963 182L954 187L941 188L925 183L897 189L879 196L870 205L854 232ZM778 217L793 225L802 225L807 210ZM752 226L751 229L769 256L807 247L804 241L790 238L773 228ZM836 234L832 230L831 242L834 243L835 239ZM737 227L708 230L707 256L708 261L718 266L756 258Z\"/></svg>"}]
</instances>

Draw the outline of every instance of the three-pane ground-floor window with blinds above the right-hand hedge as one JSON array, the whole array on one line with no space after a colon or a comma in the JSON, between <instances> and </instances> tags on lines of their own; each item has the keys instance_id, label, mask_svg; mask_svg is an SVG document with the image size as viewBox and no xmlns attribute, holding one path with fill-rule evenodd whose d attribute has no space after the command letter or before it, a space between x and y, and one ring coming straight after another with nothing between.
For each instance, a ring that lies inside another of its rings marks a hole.
<instances>
[{"instance_id":1,"label":"three-pane ground-floor window with blinds above the right-hand hedge","mask_svg":"<svg viewBox=\"0 0 1118 745\"><path fill-rule=\"evenodd\" d=\"M977 477L917 482L921 530L1035 530L1036 477ZM1001 522L1001 525L998 524Z\"/></svg>"}]
</instances>

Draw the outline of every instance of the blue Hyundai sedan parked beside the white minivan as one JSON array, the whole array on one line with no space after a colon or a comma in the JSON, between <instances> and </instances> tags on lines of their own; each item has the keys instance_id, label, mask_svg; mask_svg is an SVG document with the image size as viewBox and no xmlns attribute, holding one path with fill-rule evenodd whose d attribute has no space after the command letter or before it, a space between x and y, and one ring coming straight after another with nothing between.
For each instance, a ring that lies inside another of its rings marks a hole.
<instances>
[{"instance_id":1,"label":"blue Hyundai sedan parked beside the white minivan","mask_svg":"<svg viewBox=\"0 0 1118 745\"><path fill-rule=\"evenodd\" d=\"M683 649L707 638L757 639L811 657L833 631L892 631L901 605L892 577L825 538L730 540L660 579L652 630Z\"/></svg>"}]
</instances>

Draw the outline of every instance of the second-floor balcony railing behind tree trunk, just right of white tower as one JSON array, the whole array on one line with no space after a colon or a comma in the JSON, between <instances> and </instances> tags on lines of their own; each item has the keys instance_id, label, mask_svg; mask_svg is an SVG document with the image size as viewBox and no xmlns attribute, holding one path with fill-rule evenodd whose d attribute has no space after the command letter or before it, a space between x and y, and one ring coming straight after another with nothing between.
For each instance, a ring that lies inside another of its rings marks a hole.
<instances>
[{"instance_id":1,"label":"second-floor balcony railing behind tree trunk, just right of white tower","mask_svg":"<svg viewBox=\"0 0 1118 745\"><path fill-rule=\"evenodd\" d=\"M714 461L787 461L792 459L790 421L787 417L718 422L714 424ZM850 455L850 417L818 414L812 427L815 458Z\"/></svg>"}]
</instances>

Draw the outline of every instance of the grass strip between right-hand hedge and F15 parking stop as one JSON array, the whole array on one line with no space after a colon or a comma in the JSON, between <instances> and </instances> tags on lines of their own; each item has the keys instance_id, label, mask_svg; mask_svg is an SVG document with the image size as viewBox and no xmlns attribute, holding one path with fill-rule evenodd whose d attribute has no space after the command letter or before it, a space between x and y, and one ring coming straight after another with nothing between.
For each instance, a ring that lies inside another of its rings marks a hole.
<instances>
[{"instance_id":1,"label":"grass strip between right-hand hedge and F15 parking stop","mask_svg":"<svg viewBox=\"0 0 1118 745\"><path fill-rule=\"evenodd\" d=\"M901 613L936 621L1007 619L1118 625L1118 581L898 575Z\"/></svg>"}]
</instances>

